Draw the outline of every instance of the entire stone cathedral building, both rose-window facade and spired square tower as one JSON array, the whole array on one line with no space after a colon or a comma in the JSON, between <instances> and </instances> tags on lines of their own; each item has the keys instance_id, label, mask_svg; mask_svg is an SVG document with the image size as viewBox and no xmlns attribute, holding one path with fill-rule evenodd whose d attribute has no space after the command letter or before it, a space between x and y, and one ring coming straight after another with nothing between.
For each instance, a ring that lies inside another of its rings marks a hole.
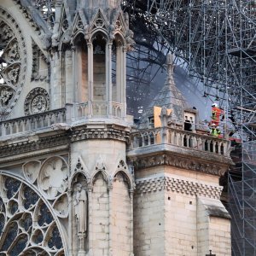
<instances>
[{"instance_id":1,"label":"entire stone cathedral building, both rose-window facade and spired square tower","mask_svg":"<svg viewBox=\"0 0 256 256\"><path fill-rule=\"evenodd\" d=\"M1 255L230 255L230 143L196 125L172 55L133 124L120 4L0 2Z\"/></svg>"}]
</instances>

